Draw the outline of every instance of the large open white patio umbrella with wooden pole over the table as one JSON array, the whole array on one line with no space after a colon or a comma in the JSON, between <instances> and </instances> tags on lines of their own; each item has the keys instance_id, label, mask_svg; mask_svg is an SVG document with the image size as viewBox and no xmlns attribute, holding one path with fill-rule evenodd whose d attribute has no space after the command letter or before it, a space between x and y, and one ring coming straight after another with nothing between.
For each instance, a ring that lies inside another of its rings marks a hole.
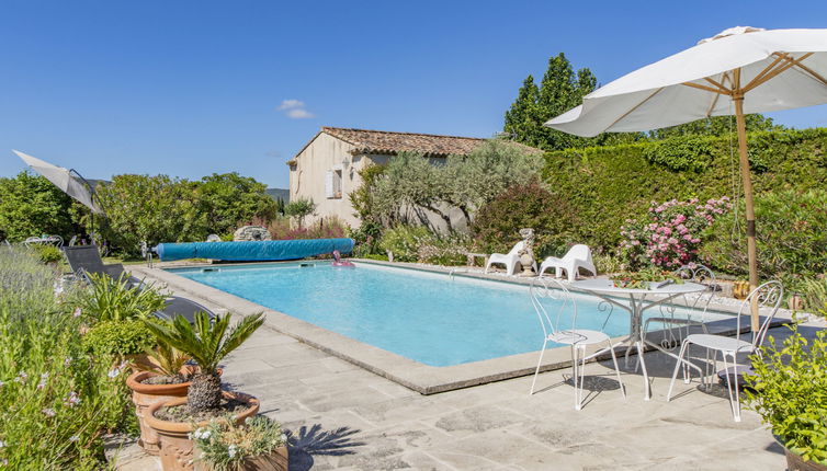
<instances>
[{"instance_id":1,"label":"large open white patio umbrella with wooden pole over the table","mask_svg":"<svg viewBox=\"0 0 827 471\"><path fill-rule=\"evenodd\" d=\"M827 103L827 30L738 26L586 95L546 126L578 136L643 131L735 115L747 216L750 289L758 286L744 114ZM752 310L752 329L758 311Z\"/></svg>"}]
</instances>

